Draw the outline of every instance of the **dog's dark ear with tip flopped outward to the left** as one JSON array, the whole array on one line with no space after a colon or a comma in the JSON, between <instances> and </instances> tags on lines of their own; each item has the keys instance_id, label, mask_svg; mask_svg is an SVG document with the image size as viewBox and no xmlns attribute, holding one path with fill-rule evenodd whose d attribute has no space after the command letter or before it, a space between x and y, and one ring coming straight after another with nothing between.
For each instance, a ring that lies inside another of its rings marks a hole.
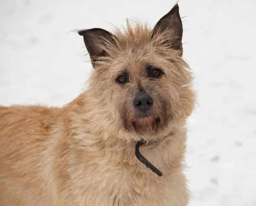
<instances>
[{"instance_id":1,"label":"dog's dark ear with tip flopped outward to the left","mask_svg":"<svg viewBox=\"0 0 256 206\"><path fill-rule=\"evenodd\" d=\"M102 28L81 30L78 31L78 34L84 37L84 44L90 54L92 63L101 56L108 56L104 48L115 42L114 35Z\"/></svg>"}]
</instances>

